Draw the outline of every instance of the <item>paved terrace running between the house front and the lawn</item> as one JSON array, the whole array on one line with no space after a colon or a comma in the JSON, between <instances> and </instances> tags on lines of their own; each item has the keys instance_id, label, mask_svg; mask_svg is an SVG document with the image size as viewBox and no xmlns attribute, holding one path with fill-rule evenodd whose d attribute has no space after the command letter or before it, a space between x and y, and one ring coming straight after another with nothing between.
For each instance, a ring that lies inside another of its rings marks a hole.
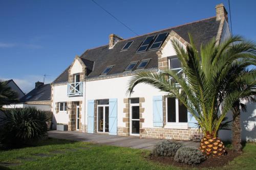
<instances>
[{"instance_id":1,"label":"paved terrace running between the house front and the lawn","mask_svg":"<svg viewBox=\"0 0 256 170\"><path fill-rule=\"evenodd\" d=\"M153 150L155 144L161 139L142 138L137 136L115 136L104 134L81 133L76 131L49 131L49 137L75 141L92 142L97 144L114 145L136 149ZM177 140L186 146L199 147L199 142Z\"/></svg>"}]
</instances>

